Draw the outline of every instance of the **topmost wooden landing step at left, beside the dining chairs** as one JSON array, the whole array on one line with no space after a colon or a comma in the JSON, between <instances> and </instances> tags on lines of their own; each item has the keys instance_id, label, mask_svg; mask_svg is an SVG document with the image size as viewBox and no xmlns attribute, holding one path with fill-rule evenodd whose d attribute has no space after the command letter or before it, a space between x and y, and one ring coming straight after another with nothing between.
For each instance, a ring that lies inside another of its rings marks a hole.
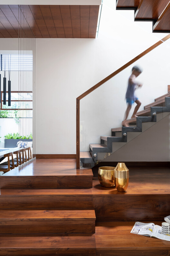
<instances>
[{"instance_id":1,"label":"topmost wooden landing step at left, beside the dining chairs","mask_svg":"<svg viewBox=\"0 0 170 256\"><path fill-rule=\"evenodd\" d=\"M0 176L1 188L90 188L91 169L76 169L75 159L37 159ZM67 163L67 164L66 164Z\"/></svg>"}]
</instances>

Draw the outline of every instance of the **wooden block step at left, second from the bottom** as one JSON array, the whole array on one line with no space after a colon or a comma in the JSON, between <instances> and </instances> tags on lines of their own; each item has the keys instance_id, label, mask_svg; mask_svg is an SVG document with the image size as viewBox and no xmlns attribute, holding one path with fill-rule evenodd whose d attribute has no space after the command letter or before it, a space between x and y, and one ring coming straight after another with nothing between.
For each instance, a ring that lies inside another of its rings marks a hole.
<instances>
[{"instance_id":1,"label":"wooden block step at left, second from the bottom","mask_svg":"<svg viewBox=\"0 0 170 256\"><path fill-rule=\"evenodd\" d=\"M1 209L1 234L95 233L94 210Z\"/></svg>"}]
</instances>

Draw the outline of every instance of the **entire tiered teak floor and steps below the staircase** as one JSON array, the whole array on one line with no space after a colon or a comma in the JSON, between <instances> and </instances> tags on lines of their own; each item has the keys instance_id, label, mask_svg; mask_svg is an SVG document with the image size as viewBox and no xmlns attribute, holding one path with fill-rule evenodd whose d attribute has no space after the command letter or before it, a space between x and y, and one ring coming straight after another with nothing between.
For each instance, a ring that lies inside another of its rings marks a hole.
<instances>
[{"instance_id":1,"label":"entire tiered teak floor and steps below the staircase","mask_svg":"<svg viewBox=\"0 0 170 256\"><path fill-rule=\"evenodd\" d=\"M8 178L16 181L19 172L35 181L42 175L48 183L48 166L51 179L55 174L68 180L92 176L91 169L76 170L75 163L38 159L0 176L0 183L2 178L6 184ZM101 187L97 177L90 188L1 188L0 255L169 256L170 242L130 231L135 221L161 225L170 214L170 168L129 169L129 186L123 193Z\"/></svg>"}]
</instances>

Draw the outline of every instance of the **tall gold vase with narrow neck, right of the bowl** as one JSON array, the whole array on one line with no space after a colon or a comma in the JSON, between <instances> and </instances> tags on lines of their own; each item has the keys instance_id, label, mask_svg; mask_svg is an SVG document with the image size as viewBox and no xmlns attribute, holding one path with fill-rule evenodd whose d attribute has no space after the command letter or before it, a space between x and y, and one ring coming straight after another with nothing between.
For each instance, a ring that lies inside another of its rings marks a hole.
<instances>
[{"instance_id":1,"label":"tall gold vase with narrow neck, right of the bowl","mask_svg":"<svg viewBox=\"0 0 170 256\"><path fill-rule=\"evenodd\" d=\"M115 186L119 192L124 192L129 183L129 169L125 163L118 163L114 169Z\"/></svg>"}]
</instances>

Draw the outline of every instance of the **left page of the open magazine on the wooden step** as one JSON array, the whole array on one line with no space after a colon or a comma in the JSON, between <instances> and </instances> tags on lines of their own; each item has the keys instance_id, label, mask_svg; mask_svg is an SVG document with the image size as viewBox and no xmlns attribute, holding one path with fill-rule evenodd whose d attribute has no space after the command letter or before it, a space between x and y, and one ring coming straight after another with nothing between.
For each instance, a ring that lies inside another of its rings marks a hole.
<instances>
[{"instance_id":1,"label":"left page of the open magazine on the wooden step","mask_svg":"<svg viewBox=\"0 0 170 256\"><path fill-rule=\"evenodd\" d=\"M154 227L154 223L143 223L137 221L130 233L151 237Z\"/></svg>"}]
</instances>

